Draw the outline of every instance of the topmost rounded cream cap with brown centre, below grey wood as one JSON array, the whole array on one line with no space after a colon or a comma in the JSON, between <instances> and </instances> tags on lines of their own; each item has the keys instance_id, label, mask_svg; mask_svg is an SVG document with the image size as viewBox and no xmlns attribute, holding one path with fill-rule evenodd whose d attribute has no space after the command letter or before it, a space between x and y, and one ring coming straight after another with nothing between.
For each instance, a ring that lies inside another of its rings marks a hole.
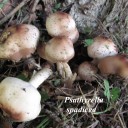
<instances>
[{"instance_id":1,"label":"topmost rounded cream cap with brown centre, below grey wood","mask_svg":"<svg viewBox=\"0 0 128 128\"><path fill-rule=\"evenodd\" d=\"M46 29L51 36L64 36L75 30L76 24L73 18L64 12L56 12L46 19Z\"/></svg>"}]
</instances>

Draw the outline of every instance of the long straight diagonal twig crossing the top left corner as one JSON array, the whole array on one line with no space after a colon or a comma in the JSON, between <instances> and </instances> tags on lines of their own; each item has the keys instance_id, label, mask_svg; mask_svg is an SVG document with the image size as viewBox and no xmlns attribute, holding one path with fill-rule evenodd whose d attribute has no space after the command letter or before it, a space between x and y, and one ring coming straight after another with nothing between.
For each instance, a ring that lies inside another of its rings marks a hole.
<instances>
[{"instance_id":1,"label":"long straight diagonal twig crossing the top left corner","mask_svg":"<svg viewBox=\"0 0 128 128\"><path fill-rule=\"evenodd\" d=\"M6 15L2 20L0 20L0 25L6 22L12 15L14 15L20 8L22 8L30 0L23 0L16 8L14 8L9 14Z\"/></svg>"}]
</instances>

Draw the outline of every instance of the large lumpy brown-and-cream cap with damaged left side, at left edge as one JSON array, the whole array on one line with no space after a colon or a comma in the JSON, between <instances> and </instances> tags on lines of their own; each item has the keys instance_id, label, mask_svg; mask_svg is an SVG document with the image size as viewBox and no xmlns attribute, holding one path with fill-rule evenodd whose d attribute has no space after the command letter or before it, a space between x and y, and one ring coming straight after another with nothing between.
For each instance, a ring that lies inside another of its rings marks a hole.
<instances>
[{"instance_id":1,"label":"large lumpy brown-and-cream cap with damaged left side, at left edge","mask_svg":"<svg viewBox=\"0 0 128 128\"><path fill-rule=\"evenodd\" d=\"M39 30L30 24L7 28L0 37L0 58L19 61L35 52Z\"/></svg>"}]
</instances>

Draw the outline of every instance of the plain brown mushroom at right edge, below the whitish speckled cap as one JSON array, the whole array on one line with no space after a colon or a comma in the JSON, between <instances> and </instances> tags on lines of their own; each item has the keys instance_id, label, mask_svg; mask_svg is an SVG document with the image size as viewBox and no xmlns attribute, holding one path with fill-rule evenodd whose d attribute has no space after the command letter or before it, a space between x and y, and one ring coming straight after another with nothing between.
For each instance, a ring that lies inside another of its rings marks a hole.
<instances>
[{"instance_id":1,"label":"plain brown mushroom at right edge, below the whitish speckled cap","mask_svg":"<svg viewBox=\"0 0 128 128\"><path fill-rule=\"evenodd\" d=\"M98 68L102 74L117 74L128 78L128 58L126 55L108 56L101 59Z\"/></svg>"}]
</instances>

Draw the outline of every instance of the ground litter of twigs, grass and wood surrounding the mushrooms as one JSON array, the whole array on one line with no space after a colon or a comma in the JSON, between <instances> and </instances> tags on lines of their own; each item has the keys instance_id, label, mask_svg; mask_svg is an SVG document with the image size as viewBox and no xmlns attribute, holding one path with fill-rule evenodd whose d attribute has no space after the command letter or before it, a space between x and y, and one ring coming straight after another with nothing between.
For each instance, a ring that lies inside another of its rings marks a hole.
<instances>
[{"instance_id":1,"label":"ground litter of twigs, grass and wood surrounding the mushrooms","mask_svg":"<svg viewBox=\"0 0 128 128\"><path fill-rule=\"evenodd\" d=\"M77 72L82 62L92 61L87 55L86 40L91 40L98 35L111 38L117 45L119 53L127 56L127 0L22 0L22 2L0 0L0 33L11 25L29 23L39 28L39 42L47 42L51 37L45 27L46 18L56 11L70 14L79 31L79 39L74 44L75 56L69 61L73 72ZM46 63L37 52L33 57L41 66ZM52 67L54 74L38 89L42 96L40 115L33 121L15 123L3 116L1 111L0 128L128 127L128 80L118 75L104 76L98 73L97 79L93 82L75 80L70 87L67 87L56 71L56 65ZM28 79L33 71L34 69L26 65L23 59L17 63L0 60L0 80L7 76ZM97 97L99 100L87 104L80 101L73 103L73 101L66 101L69 97L72 99ZM87 112L71 112L81 107L84 107ZM90 108L96 111L89 111Z\"/></svg>"}]
</instances>

